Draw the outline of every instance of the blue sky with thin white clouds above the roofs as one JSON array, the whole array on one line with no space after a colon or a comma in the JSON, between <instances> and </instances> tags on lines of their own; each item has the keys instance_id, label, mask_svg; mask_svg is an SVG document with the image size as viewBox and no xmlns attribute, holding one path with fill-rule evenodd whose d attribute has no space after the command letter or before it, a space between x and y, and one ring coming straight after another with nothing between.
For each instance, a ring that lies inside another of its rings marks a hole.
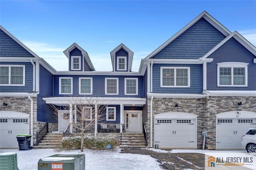
<instances>
[{"instance_id":1,"label":"blue sky with thin white clouds above the roofs","mask_svg":"<svg viewBox=\"0 0 256 170\"><path fill-rule=\"evenodd\" d=\"M206 10L256 45L256 1L0 1L0 23L56 70L76 42L96 70L112 70L110 51L124 43L140 60Z\"/></svg>"}]
</instances>

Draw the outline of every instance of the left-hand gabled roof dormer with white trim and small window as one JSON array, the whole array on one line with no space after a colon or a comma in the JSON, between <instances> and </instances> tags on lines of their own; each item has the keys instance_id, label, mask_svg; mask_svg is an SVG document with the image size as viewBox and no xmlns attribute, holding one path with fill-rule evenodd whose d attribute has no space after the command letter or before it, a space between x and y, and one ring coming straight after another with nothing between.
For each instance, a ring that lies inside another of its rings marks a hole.
<instances>
[{"instance_id":1,"label":"left-hand gabled roof dormer with white trim and small window","mask_svg":"<svg viewBox=\"0 0 256 170\"><path fill-rule=\"evenodd\" d=\"M76 43L68 47L64 54L68 58L69 71L95 71L88 53Z\"/></svg>"}]
</instances>

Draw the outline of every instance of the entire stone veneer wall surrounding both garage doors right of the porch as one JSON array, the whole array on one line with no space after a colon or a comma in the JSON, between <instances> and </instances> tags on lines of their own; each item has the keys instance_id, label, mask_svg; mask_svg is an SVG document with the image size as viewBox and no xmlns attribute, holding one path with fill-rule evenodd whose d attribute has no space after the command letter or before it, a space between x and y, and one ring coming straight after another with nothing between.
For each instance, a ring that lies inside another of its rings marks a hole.
<instances>
[{"instance_id":1,"label":"entire stone veneer wall surrounding both garage doors right of the porch","mask_svg":"<svg viewBox=\"0 0 256 170\"><path fill-rule=\"evenodd\" d=\"M243 106L238 106L238 102ZM178 108L174 104L178 103ZM256 112L256 97L239 96L208 96L206 98L154 98L153 99L153 143L154 147L154 115L165 112L188 112L198 115L197 119L197 148L200 148L202 130L207 129L206 149L216 149L216 116L228 111ZM148 144L150 146L150 98L148 98Z\"/></svg>"}]
</instances>

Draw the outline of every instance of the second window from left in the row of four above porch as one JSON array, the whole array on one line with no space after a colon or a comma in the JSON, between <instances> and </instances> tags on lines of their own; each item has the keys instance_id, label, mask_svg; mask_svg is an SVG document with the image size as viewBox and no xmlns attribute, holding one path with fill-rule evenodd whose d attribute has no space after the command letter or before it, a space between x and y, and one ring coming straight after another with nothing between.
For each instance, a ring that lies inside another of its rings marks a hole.
<instances>
[{"instance_id":1,"label":"second window from left in the row of four above porch","mask_svg":"<svg viewBox=\"0 0 256 170\"><path fill-rule=\"evenodd\" d=\"M79 78L79 94L92 94L92 78Z\"/></svg>"}]
</instances>

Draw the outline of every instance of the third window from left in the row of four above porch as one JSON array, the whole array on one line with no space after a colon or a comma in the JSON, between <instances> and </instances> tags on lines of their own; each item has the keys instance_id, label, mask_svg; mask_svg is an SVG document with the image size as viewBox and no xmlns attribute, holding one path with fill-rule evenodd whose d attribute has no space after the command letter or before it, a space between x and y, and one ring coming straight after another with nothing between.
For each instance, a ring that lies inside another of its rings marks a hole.
<instances>
[{"instance_id":1,"label":"third window from left in the row of four above porch","mask_svg":"<svg viewBox=\"0 0 256 170\"><path fill-rule=\"evenodd\" d=\"M105 94L118 95L118 78L105 78Z\"/></svg>"}]
</instances>

